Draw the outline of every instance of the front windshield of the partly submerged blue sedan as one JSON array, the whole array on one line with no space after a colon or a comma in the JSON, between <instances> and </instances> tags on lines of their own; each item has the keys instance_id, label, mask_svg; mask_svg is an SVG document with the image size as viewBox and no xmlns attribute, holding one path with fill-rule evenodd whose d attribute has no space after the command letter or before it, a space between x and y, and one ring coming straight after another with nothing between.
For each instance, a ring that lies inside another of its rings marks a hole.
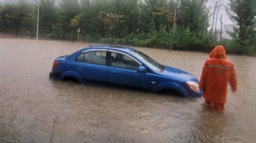
<instances>
[{"instance_id":1,"label":"front windshield of the partly submerged blue sedan","mask_svg":"<svg viewBox=\"0 0 256 143\"><path fill-rule=\"evenodd\" d=\"M143 63L145 63L146 66L148 66L150 69L152 69L156 72L160 72L165 69L165 66L157 63L157 61L154 61L154 59L150 58L148 55L146 55L138 50L135 50L134 53L135 53L135 57L138 58Z\"/></svg>"}]
</instances>

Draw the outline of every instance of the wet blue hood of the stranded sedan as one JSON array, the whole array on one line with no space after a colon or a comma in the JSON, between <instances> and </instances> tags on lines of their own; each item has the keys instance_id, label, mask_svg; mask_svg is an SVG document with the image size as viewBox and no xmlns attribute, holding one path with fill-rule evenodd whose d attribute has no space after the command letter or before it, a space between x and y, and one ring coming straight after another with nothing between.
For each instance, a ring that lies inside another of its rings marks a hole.
<instances>
[{"instance_id":1,"label":"wet blue hood of the stranded sedan","mask_svg":"<svg viewBox=\"0 0 256 143\"><path fill-rule=\"evenodd\" d=\"M192 74L189 74L187 71L183 71L181 69L176 69L170 66L165 66L165 70L159 72L160 75L171 77L176 80L184 80L186 82L197 82L198 80Z\"/></svg>"}]
</instances>

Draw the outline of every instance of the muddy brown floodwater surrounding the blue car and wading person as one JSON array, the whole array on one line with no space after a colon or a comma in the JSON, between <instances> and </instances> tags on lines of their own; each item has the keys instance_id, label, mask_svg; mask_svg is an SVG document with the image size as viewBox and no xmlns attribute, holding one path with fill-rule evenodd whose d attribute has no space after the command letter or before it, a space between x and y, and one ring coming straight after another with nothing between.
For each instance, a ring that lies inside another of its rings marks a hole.
<instances>
[{"instance_id":1,"label":"muddy brown floodwater surrounding the blue car and wading person","mask_svg":"<svg viewBox=\"0 0 256 143\"><path fill-rule=\"evenodd\" d=\"M203 98L50 80L78 42L0 38L0 142L255 142L256 58L227 55L238 76L224 112ZM208 53L135 47L198 79ZM230 87L229 87L230 89Z\"/></svg>"}]
</instances>

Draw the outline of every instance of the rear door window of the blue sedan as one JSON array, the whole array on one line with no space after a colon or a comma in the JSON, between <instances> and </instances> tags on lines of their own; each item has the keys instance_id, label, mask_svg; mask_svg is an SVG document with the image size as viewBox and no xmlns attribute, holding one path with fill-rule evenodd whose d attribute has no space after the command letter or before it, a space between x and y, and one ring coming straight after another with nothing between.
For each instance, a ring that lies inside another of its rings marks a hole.
<instances>
[{"instance_id":1,"label":"rear door window of the blue sedan","mask_svg":"<svg viewBox=\"0 0 256 143\"><path fill-rule=\"evenodd\" d=\"M85 63L94 63L99 65L105 65L106 63L106 51L91 51L84 55Z\"/></svg>"}]
</instances>

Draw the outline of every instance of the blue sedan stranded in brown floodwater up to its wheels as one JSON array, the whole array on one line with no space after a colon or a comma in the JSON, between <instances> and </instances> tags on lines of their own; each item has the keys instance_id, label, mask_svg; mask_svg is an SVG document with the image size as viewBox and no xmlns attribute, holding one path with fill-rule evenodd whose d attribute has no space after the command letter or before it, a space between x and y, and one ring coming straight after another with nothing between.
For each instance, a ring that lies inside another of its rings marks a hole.
<instances>
[{"instance_id":1,"label":"blue sedan stranded in brown floodwater up to its wheels","mask_svg":"<svg viewBox=\"0 0 256 143\"><path fill-rule=\"evenodd\" d=\"M200 97L196 77L181 69L157 63L130 47L97 45L63 55L53 62L49 77L94 82L128 88L175 92L184 97Z\"/></svg>"}]
</instances>

